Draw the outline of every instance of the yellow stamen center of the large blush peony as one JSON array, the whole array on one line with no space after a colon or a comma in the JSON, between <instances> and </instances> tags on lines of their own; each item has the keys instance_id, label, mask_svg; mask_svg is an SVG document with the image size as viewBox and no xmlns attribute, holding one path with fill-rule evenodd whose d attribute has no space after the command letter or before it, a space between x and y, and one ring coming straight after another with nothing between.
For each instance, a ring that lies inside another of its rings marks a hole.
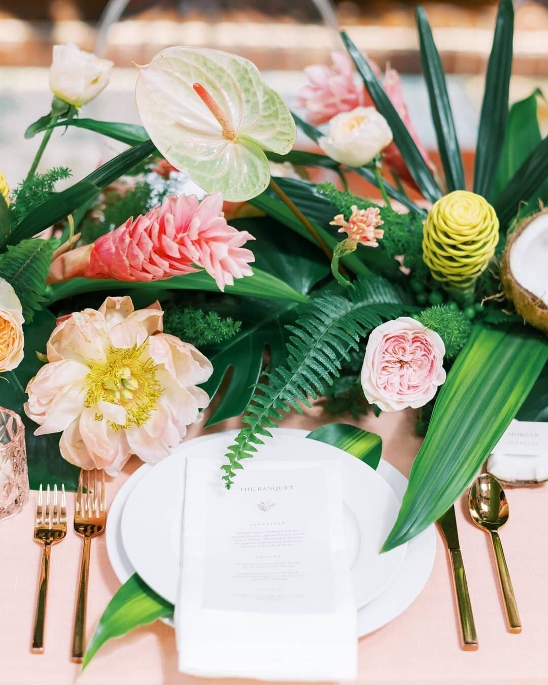
<instances>
[{"instance_id":1,"label":"yellow stamen center of the large blush peony","mask_svg":"<svg viewBox=\"0 0 548 685\"><path fill-rule=\"evenodd\" d=\"M115 430L127 429L131 425L139 427L146 423L156 410L158 397L162 395L153 360L143 358L145 345L147 343L128 349L111 347L106 361L90 365L90 372L86 376L86 407L104 400L126 410L125 425L110 422ZM95 419L101 421L103 415L97 414Z\"/></svg>"}]
</instances>

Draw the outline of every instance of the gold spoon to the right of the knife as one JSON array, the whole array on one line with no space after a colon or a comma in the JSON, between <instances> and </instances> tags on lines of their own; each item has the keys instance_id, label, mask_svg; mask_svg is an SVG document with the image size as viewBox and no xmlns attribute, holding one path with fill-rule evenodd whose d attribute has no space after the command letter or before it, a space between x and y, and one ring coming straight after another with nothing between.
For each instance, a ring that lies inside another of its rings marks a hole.
<instances>
[{"instance_id":1,"label":"gold spoon to the right of the knife","mask_svg":"<svg viewBox=\"0 0 548 685\"><path fill-rule=\"evenodd\" d=\"M502 551L501 538L497 530L508 521L508 501L501 484L489 473L479 475L470 488L468 508L472 521L479 528L491 535L493 551L497 567L501 591L506 607L506 619L511 633L521 633L521 620L519 618L514 588L506 566L506 559Z\"/></svg>"}]
</instances>

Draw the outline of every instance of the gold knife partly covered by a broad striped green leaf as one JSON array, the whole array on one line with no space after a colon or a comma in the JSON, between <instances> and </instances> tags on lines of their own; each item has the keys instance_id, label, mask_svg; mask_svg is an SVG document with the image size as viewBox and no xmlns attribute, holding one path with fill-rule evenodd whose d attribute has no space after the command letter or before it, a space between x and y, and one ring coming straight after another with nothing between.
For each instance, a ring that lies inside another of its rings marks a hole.
<instances>
[{"instance_id":1,"label":"gold knife partly covered by a broad striped green leaf","mask_svg":"<svg viewBox=\"0 0 548 685\"><path fill-rule=\"evenodd\" d=\"M445 538L449 559L451 560L451 568L453 569L458 615L462 632L462 648L472 651L477 649L477 636L475 634L474 616L468 592L468 583L466 582L466 573L464 573L462 554L458 544L457 519L454 506L449 507L445 514L438 519L438 525L443 538Z\"/></svg>"}]
</instances>

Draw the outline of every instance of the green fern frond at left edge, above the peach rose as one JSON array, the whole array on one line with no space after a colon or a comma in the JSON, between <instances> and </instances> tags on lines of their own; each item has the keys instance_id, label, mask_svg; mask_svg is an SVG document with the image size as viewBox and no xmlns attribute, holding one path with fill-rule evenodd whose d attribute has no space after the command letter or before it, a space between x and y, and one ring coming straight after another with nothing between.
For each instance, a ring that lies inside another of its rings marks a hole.
<instances>
[{"instance_id":1,"label":"green fern frond at left edge, above the peach rose","mask_svg":"<svg viewBox=\"0 0 548 685\"><path fill-rule=\"evenodd\" d=\"M45 302L46 277L55 249L55 241L30 238L17 245L9 245L0 255L0 277L15 290L25 321L32 321L34 312Z\"/></svg>"}]
</instances>

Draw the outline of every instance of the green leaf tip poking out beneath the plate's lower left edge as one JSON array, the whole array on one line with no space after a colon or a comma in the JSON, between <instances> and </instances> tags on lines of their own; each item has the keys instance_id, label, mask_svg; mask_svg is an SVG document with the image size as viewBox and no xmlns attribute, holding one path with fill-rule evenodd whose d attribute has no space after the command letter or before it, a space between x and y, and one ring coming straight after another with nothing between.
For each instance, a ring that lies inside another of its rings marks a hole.
<instances>
[{"instance_id":1,"label":"green leaf tip poking out beneath the plate's lower left edge","mask_svg":"<svg viewBox=\"0 0 548 685\"><path fill-rule=\"evenodd\" d=\"M173 604L157 595L134 573L112 597L103 612L86 648L82 671L108 640L125 635L138 625L147 625L171 614Z\"/></svg>"}]
</instances>

